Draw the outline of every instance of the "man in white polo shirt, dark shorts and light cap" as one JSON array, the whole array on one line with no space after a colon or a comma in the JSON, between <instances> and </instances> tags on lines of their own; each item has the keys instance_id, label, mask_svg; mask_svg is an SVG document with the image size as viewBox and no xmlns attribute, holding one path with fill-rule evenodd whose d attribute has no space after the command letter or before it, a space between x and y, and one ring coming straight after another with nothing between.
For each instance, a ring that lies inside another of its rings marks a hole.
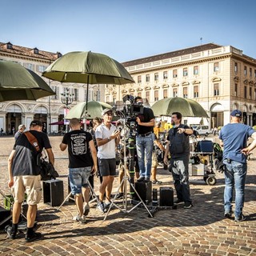
<instances>
[{"instance_id":1,"label":"man in white polo shirt, dark shorts and light cap","mask_svg":"<svg viewBox=\"0 0 256 256\"><path fill-rule=\"evenodd\" d=\"M113 112L110 109L102 111L103 122L96 128L95 138L98 145L98 168L102 176L102 184L99 187L98 210L106 213L107 206L110 206L110 196L116 175L115 149L120 141L120 131L111 123ZM103 197L106 192L106 202Z\"/></svg>"}]
</instances>

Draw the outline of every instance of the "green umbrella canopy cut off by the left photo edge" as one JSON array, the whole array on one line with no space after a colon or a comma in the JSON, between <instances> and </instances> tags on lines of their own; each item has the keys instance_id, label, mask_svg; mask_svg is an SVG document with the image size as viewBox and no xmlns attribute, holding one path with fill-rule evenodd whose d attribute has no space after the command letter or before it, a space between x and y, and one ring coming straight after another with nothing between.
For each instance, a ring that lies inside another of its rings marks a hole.
<instances>
[{"instance_id":1,"label":"green umbrella canopy cut off by the left photo edge","mask_svg":"<svg viewBox=\"0 0 256 256\"><path fill-rule=\"evenodd\" d=\"M32 70L16 62L0 61L0 102L36 100L55 95L46 82Z\"/></svg>"}]
</instances>

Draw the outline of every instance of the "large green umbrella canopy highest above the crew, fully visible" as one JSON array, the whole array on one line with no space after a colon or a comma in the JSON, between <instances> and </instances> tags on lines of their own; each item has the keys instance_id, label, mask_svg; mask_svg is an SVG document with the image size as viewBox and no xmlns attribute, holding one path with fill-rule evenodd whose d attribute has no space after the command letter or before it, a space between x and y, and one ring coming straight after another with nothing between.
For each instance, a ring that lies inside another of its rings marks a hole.
<instances>
[{"instance_id":1,"label":"large green umbrella canopy highest above the crew, fully visible","mask_svg":"<svg viewBox=\"0 0 256 256\"><path fill-rule=\"evenodd\" d=\"M58 58L42 73L59 82L125 84L134 82L128 71L113 58L91 51L75 51Z\"/></svg>"}]
</instances>

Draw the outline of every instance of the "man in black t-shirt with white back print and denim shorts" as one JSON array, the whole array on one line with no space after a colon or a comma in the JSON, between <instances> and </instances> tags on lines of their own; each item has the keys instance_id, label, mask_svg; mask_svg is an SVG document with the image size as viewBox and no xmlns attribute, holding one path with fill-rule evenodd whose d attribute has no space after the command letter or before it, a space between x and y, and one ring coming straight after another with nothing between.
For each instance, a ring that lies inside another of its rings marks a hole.
<instances>
[{"instance_id":1,"label":"man in black t-shirt with white back print and denim shorts","mask_svg":"<svg viewBox=\"0 0 256 256\"><path fill-rule=\"evenodd\" d=\"M70 188L78 209L78 215L74 217L74 220L84 223L86 222L85 216L90 211L88 179L92 166L93 171L97 171L97 152L91 134L81 130L78 118L70 120L70 128L71 131L62 139L60 149L64 151L68 147L69 152ZM83 201L85 202L84 208Z\"/></svg>"}]
</instances>

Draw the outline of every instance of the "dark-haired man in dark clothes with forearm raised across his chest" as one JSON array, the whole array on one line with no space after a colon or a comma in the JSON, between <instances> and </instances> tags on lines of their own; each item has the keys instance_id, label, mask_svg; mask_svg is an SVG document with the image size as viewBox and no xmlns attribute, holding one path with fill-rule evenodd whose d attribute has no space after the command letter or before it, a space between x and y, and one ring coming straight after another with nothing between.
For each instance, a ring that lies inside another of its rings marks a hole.
<instances>
[{"instance_id":1,"label":"dark-haired man in dark clothes with forearm raised across his chest","mask_svg":"<svg viewBox=\"0 0 256 256\"><path fill-rule=\"evenodd\" d=\"M167 136L166 153L164 163L168 164L168 154L170 152L170 171L173 174L174 186L177 194L175 203L184 202L184 209L191 208L189 183L189 160L190 160L190 137L193 130L189 126L183 125L182 114L174 112L171 115L171 128Z\"/></svg>"}]
</instances>

